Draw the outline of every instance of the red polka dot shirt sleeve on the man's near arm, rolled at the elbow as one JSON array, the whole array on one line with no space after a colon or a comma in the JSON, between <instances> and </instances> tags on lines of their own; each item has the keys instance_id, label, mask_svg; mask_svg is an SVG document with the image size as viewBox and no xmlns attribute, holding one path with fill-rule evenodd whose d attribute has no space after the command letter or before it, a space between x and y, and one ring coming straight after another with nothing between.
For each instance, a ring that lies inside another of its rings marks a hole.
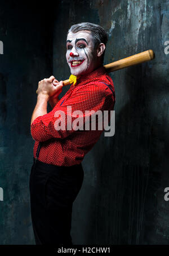
<instances>
[{"instance_id":1,"label":"red polka dot shirt sleeve on the man's near arm, rolled at the elbow","mask_svg":"<svg viewBox=\"0 0 169 256\"><path fill-rule=\"evenodd\" d=\"M97 85L79 87L63 104L56 105L51 112L35 118L31 125L32 138L38 142L51 138L64 139L77 132L78 126L83 126L84 129L87 118L92 113L103 111L109 104L108 101L112 100L106 97L104 91Z\"/></svg>"}]
</instances>

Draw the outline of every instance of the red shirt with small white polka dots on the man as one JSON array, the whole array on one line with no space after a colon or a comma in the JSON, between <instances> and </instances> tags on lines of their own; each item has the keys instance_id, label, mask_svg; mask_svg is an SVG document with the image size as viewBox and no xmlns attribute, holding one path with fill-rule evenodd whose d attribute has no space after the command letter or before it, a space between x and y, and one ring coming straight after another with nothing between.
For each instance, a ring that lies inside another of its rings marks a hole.
<instances>
[{"instance_id":1,"label":"red shirt with small white polka dots on the man","mask_svg":"<svg viewBox=\"0 0 169 256\"><path fill-rule=\"evenodd\" d=\"M103 66L81 76L51 112L33 121L34 158L58 166L80 164L104 130L104 125L103 129L98 128L97 116L96 129L91 128L92 113L106 110L110 121L110 110L114 109L114 104L113 81Z\"/></svg>"}]
</instances>

